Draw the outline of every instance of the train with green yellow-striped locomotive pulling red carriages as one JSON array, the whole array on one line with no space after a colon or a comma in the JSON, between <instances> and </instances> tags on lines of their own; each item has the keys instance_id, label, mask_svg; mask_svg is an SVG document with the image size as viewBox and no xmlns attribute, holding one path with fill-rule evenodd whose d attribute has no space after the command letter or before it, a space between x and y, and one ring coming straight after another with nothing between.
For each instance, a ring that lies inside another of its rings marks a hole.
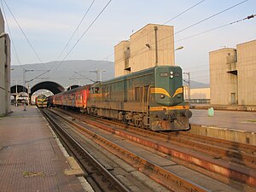
<instances>
[{"instance_id":1,"label":"train with green yellow-striped locomotive pulling red carriages","mask_svg":"<svg viewBox=\"0 0 256 192\"><path fill-rule=\"evenodd\" d=\"M152 131L187 131L192 116L177 66L151 67L64 91L50 96L49 106L79 109Z\"/></svg>"}]
</instances>

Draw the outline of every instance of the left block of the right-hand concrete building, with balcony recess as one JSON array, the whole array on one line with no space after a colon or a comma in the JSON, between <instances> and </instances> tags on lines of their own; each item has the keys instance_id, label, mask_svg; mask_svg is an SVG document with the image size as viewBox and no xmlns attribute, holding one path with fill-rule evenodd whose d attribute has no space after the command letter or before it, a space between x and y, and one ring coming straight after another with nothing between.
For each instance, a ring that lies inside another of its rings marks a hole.
<instances>
[{"instance_id":1,"label":"left block of the right-hand concrete building, with balcony recess","mask_svg":"<svg viewBox=\"0 0 256 192\"><path fill-rule=\"evenodd\" d=\"M209 54L212 105L237 103L237 76L230 71L230 66L236 66L234 58L236 58L236 49L230 48L214 50ZM232 100L232 95L235 101Z\"/></svg>"}]
</instances>

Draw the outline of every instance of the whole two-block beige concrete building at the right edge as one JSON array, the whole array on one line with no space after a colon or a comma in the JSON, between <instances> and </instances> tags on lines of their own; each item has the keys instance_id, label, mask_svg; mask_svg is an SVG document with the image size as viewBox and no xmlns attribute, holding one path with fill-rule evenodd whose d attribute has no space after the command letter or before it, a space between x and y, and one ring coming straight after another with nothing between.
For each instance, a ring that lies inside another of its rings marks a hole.
<instances>
[{"instance_id":1,"label":"whole two-block beige concrete building at the right edge","mask_svg":"<svg viewBox=\"0 0 256 192\"><path fill-rule=\"evenodd\" d=\"M212 105L256 109L256 40L209 53Z\"/></svg>"}]
</instances>

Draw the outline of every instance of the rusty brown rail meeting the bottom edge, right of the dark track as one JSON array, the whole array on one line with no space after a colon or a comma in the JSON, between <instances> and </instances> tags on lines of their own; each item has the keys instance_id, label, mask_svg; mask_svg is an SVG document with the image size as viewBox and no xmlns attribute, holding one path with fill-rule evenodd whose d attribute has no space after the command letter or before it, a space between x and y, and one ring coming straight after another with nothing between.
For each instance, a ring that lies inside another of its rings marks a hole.
<instances>
[{"instance_id":1,"label":"rusty brown rail meeting the bottom edge, right of the dark track","mask_svg":"<svg viewBox=\"0 0 256 192\"><path fill-rule=\"evenodd\" d=\"M162 184L167 189L174 191L191 192L209 191L208 189L205 189L204 187L192 181L189 181L183 177L179 177L175 173L169 172L165 168L157 166L156 164L144 159L143 157L140 157L137 154L134 154L131 151L120 147L119 145L109 141L104 137L96 135L96 133L84 128L84 126L79 125L70 119L66 119L58 113L55 114L59 115L61 119L67 121L70 125L77 127L82 134L85 133L87 136L90 137L91 140L102 146L102 148L106 148L111 153L119 157L122 157L121 159L125 160L131 166L137 168L137 170L139 170L140 172L143 172L144 174L148 175L148 177L151 177L157 183Z\"/></svg>"}]
</instances>

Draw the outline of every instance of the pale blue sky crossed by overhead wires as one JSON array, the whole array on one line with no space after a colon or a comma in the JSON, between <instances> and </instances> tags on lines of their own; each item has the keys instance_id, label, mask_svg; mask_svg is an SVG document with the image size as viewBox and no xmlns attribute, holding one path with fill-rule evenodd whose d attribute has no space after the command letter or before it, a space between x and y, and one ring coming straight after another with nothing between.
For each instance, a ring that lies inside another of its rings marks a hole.
<instances>
[{"instance_id":1,"label":"pale blue sky crossed by overhead wires","mask_svg":"<svg viewBox=\"0 0 256 192\"><path fill-rule=\"evenodd\" d=\"M209 51L224 47L236 48L236 44L256 39L256 18L206 32L255 15L256 0L112 0L101 15L109 0L1 2L1 10L6 18L5 30L13 45L11 65L62 60L113 61L115 44L129 39L132 32L137 32L148 23L155 23L174 26L174 32L177 32L174 47L183 46L175 53L176 65L182 67L183 72L190 72L192 80L209 83ZM238 3L241 4L229 9ZM194 8L189 9L195 4ZM180 15L187 9L189 11ZM224 12L216 15L221 11ZM97 15L99 17L96 19ZM205 20L212 15L216 16ZM171 20L175 16L177 18ZM166 23L168 20L171 21ZM192 26L201 20L204 21ZM191 27L179 32L188 26ZM73 32L73 39L67 44ZM201 32L205 33L187 38Z\"/></svg>"}]
</instances>

